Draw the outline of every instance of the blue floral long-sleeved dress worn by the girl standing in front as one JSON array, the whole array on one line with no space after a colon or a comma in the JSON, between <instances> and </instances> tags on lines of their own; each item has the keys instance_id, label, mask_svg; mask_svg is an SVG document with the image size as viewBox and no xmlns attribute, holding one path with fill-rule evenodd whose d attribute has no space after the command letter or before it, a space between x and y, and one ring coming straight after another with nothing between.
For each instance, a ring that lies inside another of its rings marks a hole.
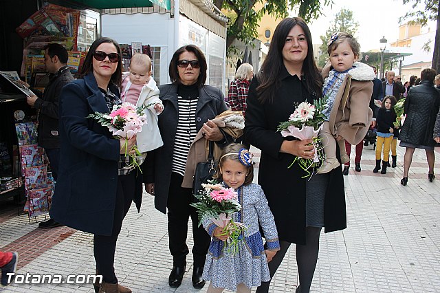
<instances>
[{"instance_id":1,"label":"blue floral long-sleeved dress worn by the girl standing in front","mask_svg":"<svg viewBox=\"0 0 440 293\"><path fill-rule=\"evenodd\" d=\"M232 218L247 227L243 232L243 239L239 241L238 252L232 254L223 249L225 241L212 236L217 226L210 220L203 221L203 227L213 237L203 268L203 279L211 281L213 287L232 291L236 291L236 285L240 283L246 287L256 287L261 282L270 281L259 223L267 237L267 249L280 249L274 216L261 186L252 183L241 186L236 191L241 210L234 213Z\"/></svg>"}]
</instances>

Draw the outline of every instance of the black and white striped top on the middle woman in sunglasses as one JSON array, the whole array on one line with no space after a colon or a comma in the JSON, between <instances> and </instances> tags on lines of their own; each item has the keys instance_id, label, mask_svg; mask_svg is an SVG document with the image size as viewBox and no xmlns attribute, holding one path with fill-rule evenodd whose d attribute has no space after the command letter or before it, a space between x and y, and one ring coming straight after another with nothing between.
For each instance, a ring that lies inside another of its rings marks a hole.
<instances>
[{"instance_id":1,"label":"black and white striped top on the middle woman in sunglasses","mask_svg":"<svg viewBox=\"0 0 440 293\"><path fill-rule=\"evenodd\" d=\"M197 86L179 85L177 89L179 120L177 122L171 171L182 176L185 174L186 158L188 157L190 145L197 135L195 111L198 100L199 89Z\"/></svg>"}]
</instances>

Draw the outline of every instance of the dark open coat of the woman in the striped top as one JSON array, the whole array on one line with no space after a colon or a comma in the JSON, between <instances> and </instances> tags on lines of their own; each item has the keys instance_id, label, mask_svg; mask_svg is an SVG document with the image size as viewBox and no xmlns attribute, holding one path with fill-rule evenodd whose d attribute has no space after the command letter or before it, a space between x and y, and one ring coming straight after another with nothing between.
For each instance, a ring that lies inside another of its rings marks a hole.
<instances>
[{"instance_id":1,"label":"dark open coat of the woman in the striped top","mask_svg":"<svg viewBox=\"0 0 440 293\"><path fill-rule=\"evenodd\" d=\"M173 166L173 150L177 122L179 119L179 104L177 102L177 85L168 84L159 86L159 98L164 103L164 111L159 115L159 131L164 145L148 152L144 182L154 183L155 208L166 213L168 191ZM197 133L208 119L214 119L228 109L223 93L217 87L203 85L199 88L199 100L195 112Z\"/></svg>"}]
</instances>

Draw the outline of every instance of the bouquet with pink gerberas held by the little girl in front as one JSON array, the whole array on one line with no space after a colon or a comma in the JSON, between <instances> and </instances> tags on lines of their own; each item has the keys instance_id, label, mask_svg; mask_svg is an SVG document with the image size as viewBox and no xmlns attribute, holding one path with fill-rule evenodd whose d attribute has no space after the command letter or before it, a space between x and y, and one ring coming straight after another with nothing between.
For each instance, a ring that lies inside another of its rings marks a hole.
<instances>
[{"instance_id":1,"label":"bouquet with pink gerberas held by the little girl in front","mask_svg":"<svg viewBox=\"0 0 440 293\"><path fill-rule=\"evenodd\" d=\"M208 182L209 184L201 184L203 189L195 195L199 202L190 205L197 208L199 226L203 221L210 220L223 228L222 235L229 236L225 249L234 254L238 251L239 241L243 239L241 232L246 230L242 223L232 219L232 214L241 210L238 195L234 188L224 188L215 180Z\"/></svg>"}]
</instances>

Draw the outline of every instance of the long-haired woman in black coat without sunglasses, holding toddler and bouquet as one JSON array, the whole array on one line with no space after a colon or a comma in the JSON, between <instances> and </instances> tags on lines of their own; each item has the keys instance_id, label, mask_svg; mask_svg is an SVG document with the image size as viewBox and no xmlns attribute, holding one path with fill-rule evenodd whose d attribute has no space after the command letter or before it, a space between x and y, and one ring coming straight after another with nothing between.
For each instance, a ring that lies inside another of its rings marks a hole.
<instances>
[{"instance_id":1,"label":"long-haired woman in black coat without sunglasses, holding toddler and bouquet","mask_svg":"<svg viewBox=\"0 0 440 293\"><path fill-rule=\"evenodd\" d=\"M322 77L314 62L311 34L299 17L278 24L261 71L252 80L245 119L245 138L261 149L259 184L274 214L281 250L269 263L273 276L291 243L296 243L300 285L309 292L318 259L319 236L347 227L341 167L303 178L296 157L314 158L311 140L283 138L276 131L300 102L322 95ZM339 154L338 154L339 157ZM263 283L257 292L268 292Z\"/></svg>"}]
</instances>

